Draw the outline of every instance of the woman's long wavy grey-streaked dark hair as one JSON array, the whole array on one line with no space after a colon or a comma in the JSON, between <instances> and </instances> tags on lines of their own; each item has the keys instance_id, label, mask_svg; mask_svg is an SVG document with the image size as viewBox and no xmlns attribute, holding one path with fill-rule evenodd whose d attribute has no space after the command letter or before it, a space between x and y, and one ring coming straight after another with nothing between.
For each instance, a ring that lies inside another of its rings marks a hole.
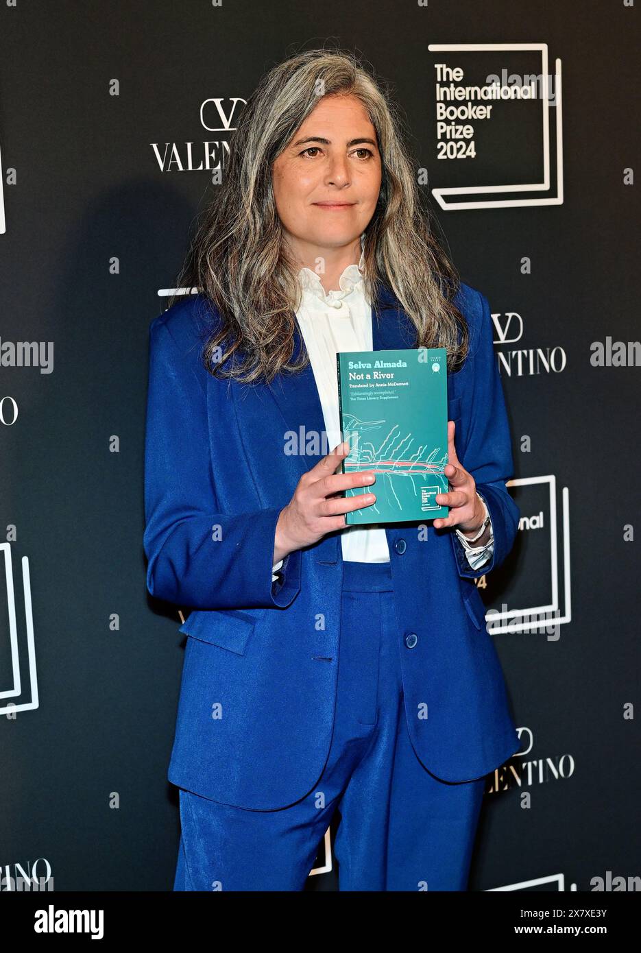
<instances>
[{"instance_id":1,"label":"woman's long wavy grey-streaked dark hair","mask_svg":"<svg viewBox=\"0 0 641 953\"><path fill-rule=\"evenodd\" d=\"M301 287L283 240L271 171L318 104L319 90L357 97L376 131L382 182L363 248L368 300L376 310L380 290L391 290L416 327L415 346L445 347L452 372L469 348L467 322L452 302L460 282L431 234L403 120L350 52L327 50L299 53L263 76L231 140L223 184L197 224L176 287L195 287L220 317L203 351L205 366L211 375L252 383L308 363L304 344L292 360Z\"/></svg>"}]
</instances>

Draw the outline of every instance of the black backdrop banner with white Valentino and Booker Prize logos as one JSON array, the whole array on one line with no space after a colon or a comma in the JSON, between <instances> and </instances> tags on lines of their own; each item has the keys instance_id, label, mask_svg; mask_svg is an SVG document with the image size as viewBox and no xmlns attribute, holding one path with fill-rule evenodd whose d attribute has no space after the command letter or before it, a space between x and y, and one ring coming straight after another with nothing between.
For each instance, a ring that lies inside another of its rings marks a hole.
<instances>
[{"instance_id":1,"label":"black backdrop banner with white Valentino and Booker Prize logos","mask_svg":"<svg viewBox=\"0 0 641 953\"><path fill-rule=\"evenodd\" d=\"M146 588L149 325L250 92L323 46L388 85L491 304L521 518L477 585L521 750L486 779L470 889L641 889L638 8L2 4L1 890L171 889L185 637ZM334 833L310 890L337 887Z\"/></svg>"}]
</instances>

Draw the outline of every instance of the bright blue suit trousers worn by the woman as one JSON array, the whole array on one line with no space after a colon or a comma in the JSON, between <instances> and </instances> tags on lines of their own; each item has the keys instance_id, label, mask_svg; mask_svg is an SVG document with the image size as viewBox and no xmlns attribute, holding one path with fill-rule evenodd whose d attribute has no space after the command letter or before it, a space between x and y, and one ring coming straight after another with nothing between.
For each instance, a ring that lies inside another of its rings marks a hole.
<instances>
[{"instance_id":1,"label":"bright blue suit trousers worn by the woman","mask_svg":"<svg viewBox=\"0 0 641 953\"><path fill-rule=\"evenodd\" d=\"M301 801L273 811L180 788L174 891L302 890L336 809L340 890L467 889L485 779L440 781L418 760L403 700L400 653L408 651L390 563L345 561L334 727L321 777Z\"/></svg>"}]
</instances>

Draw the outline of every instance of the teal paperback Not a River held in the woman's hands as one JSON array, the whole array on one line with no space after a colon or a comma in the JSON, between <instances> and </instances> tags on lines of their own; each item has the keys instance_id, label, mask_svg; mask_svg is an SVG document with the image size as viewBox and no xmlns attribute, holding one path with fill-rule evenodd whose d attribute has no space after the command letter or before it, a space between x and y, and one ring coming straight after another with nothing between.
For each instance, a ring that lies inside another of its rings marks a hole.
<instances>
[{"instance_id":1,"label":"teal paperback Not a River held in the woman's hands","mask_svg":"<svg viewBox=\"0 0 641 953\"><path fill-rule=\"evenodd\" d=\"M447 517L436 502L449 490L448 373L445 348L350 351L336 355L338 408L350 454L345 474L372 471L370 506L346 513L348 525Z\"/></svg>"}]
</instances>

